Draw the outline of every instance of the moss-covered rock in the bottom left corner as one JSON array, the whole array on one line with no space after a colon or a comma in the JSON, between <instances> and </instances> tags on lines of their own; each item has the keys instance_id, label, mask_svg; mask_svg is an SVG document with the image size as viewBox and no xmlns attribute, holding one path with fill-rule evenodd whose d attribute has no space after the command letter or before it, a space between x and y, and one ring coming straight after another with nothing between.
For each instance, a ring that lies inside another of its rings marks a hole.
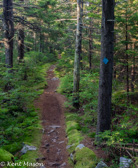
<instances>
[{"instance_id":1,"label":"moss-covered rock in the bottom left corner","mask_svg":"<svg viewBox=\"0 0 138 168\"><path fill-rule=\"evenodd\" d=\"M0 162L12 161L14 156L8 151L0 148Z\"/></svg>"}]
</instances>

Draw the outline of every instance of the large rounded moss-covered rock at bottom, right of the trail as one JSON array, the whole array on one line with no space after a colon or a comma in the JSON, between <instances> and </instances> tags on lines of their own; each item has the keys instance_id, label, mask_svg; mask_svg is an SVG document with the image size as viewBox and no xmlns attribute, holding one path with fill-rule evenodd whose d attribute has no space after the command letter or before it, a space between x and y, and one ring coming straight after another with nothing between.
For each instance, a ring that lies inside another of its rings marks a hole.
<instances>
[{"instance_id":1,"label":"large rounded moss-covered rock at bottom, right of the trail","mask_svg":"<svg viewBox=\"0 0 138 168\"><path fill-rule=\"evenodd\" d=\"M75 168L95 168L97 157L95 153L87 147L77 148L74 154Z\"/></svg>"}]
</instances>

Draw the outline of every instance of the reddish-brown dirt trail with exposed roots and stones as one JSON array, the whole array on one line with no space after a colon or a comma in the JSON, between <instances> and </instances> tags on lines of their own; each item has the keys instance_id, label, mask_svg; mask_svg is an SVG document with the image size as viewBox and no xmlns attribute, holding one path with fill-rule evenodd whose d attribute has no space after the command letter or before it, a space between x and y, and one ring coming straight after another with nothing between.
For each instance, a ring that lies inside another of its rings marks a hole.
<instances>
[{"instance_id":1,"label":"reddish-brown dirt trail with exposed roots and stones","mask_svg":"<svg viewBox=\"0 0 138 168\"><path fill-rule=\"evenodd\" d=\"M56 92L59 79L54 77L52 65L48 70L48 88L36 102L41 110L43 138L41 153L46 168L70 168L67 163L67 138L65 133L64 96Z\"/></svg>"}]
</instances>

